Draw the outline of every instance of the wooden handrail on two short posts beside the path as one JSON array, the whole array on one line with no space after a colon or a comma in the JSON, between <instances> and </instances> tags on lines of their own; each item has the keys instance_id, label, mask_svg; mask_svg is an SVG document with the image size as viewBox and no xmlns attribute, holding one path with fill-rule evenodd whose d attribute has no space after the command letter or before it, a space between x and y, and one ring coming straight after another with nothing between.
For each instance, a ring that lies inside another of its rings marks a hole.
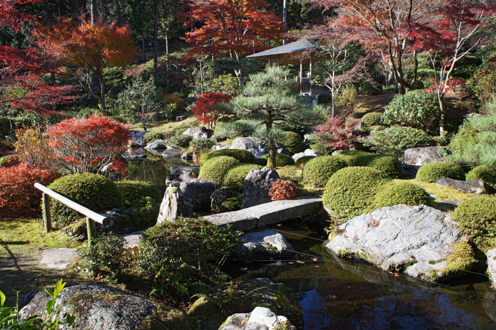
<instances>
[{"instance_id":1,"label":"wooden handrail on two short posts beside the path","mask_svg":"<svg viewBox=\"0 0 496 330\"><path fill-rule=\"evenodd\" d=\"M36 189L39 189L43 192L43 220L45 221L45 232L48 233L52 230L52 219L50 217L50 197L58 200L62 204L67 205L74 211L79 212L83 216L86 216L86 229L88 231L88 244L91 244L92 238L96 235L96 226L95 221L101 224L108 224L109 219L105 216L102 216L96 212L91 211L88 208L85 208L82 205L77 204L70 199L63 197L61 194L56 193L52 189L45 187L44 185L36 182L34 184Z\"/></svg>"}]
</instances>

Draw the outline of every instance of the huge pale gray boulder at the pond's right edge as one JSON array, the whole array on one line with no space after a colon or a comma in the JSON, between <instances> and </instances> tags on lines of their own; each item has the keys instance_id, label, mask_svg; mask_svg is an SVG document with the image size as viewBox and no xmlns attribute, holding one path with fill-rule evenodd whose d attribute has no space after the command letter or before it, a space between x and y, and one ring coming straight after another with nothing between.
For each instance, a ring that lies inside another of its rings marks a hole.
<instances>
[{"instance_id":1,"label":"huge pale gray boulder at the pond's right edge","mask_svg":"<svg viewBox=\"0 0 496 330\"><path fill-rule=\"evenodd\" d=\"M384 207L349 220L326 247L390 272L435 281L462 237L451 217L426 205ZM436 276L432 276L435 272Z\"/></svg>"}]
</instances>

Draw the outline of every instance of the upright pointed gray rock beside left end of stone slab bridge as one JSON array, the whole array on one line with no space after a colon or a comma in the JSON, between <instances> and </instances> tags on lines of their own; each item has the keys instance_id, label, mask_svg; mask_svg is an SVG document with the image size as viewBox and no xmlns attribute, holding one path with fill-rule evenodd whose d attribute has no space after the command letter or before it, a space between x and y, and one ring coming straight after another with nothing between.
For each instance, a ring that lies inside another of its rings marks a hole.
<instances>
[{"instance_id":1,"label":"upright pointed gray rock beside left end of stone slab bridge","mask_svg":"<svg viewBox=\"0 0 496 330\"><path fill-rule=\"evenodd\" d=\"M169 185L164 194L157 223L173 221L177 217L188 218L193 215L191 205L187 203L180 189L174 185Z\"/></svg>"}]
</instances>

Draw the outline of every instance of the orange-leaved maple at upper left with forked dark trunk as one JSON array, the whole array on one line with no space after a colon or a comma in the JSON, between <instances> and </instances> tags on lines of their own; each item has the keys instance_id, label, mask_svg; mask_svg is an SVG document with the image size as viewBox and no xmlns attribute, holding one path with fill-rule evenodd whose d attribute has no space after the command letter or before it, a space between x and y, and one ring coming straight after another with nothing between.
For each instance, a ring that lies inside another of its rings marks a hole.
<instances>
[{"instance_id":1,"label":"orange-leaved maple at upper left with forked dark trunk","mask_svg":"<svg viewBox=\"0 0 496 330\"><path fill-rule=\"evenodd\" d=\"M104 22L92 25L86 20L75 23L64 19L51 27L39 28L36 36L45 52L71 69L81 86L100 100L101 110L105 110L104 68L123 65L135 55L128 27ZM81 75L78 69L82 69L84 74ZM98 76L100 93L91 88L91 72Z\"/></svg>"}]
</instances>

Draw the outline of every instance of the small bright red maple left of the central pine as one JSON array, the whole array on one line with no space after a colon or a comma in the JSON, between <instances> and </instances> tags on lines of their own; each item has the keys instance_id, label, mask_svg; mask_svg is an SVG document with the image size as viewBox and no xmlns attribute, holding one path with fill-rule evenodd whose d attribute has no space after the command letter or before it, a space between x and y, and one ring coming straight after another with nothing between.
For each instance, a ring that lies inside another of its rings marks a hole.
<instances>
[{"instance_id":1,"label":"small bright red maple left of the central pine","mask_svg":"<svg viewBox=\"0 0 496 330\"><path fill-rule=\"evenodd\" d=\"M224 116L229 115L225 108L219 106L222 103L227 103L232 99L231 95L223 93L203 93L199 96L194 107L191 109L196 115L196 121L203 122L204 125L209 127L215 126L217 120Z\"/></svg>"}]
</instances>

